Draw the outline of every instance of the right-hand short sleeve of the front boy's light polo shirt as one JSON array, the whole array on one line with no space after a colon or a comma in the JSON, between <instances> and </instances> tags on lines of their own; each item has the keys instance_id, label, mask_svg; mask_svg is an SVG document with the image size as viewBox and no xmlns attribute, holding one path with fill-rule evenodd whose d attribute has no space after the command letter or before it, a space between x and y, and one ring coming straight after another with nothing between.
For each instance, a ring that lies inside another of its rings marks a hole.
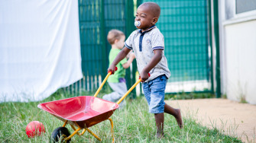
<instances>
[{"instance_id":1,"label":"right-hand short sleeve of the front boy's light polo shirt","mask_svg":"<svg viewBox=\"0 0 256 143\"><path fill-rule=\"evenodd\" d=\"M159 30L155 30L152 34L151 45L154 49L164 49L164 35Z\"/></svg>"}]
</instances>

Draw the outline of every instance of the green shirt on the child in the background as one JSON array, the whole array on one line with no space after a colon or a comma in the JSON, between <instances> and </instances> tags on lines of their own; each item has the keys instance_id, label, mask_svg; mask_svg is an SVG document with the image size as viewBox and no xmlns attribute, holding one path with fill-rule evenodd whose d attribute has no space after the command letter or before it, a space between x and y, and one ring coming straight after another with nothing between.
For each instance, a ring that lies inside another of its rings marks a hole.
<instances>
[{"instance_id":1,"label":"green shirt on the child in the background","mask_svg":"<svg viewBox=\"0 0 256 143\"><path fill-rule=\"evenodd\" d=\"M121 49L111 49L109 52L109 65L112 64L112 62L114 61L115 57L118 56L118 53L121 51ZM122 61L120 61L118 63L118 65L116 65L116 67L118 68L117 71L115 71L115 75L110 75L108 78L108 82L115 82L118 83L119 82L119 78L125 78L125 68L122 66L123 64L125 64L125 62L127 62L127 59L122 59Z\"/></svg>"}]
</instances>

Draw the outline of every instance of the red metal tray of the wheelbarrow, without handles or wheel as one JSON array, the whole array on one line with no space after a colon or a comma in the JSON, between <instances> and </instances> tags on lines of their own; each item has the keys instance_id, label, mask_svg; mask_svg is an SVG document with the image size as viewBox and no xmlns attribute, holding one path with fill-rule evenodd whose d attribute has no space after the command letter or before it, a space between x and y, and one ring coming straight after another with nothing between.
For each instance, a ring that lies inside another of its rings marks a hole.
<instances>
[{"instance_id":1,"label":"red metal tray of the wheelbarrow, without handles or wheel","mask_svg":"<svg viewBox=\"0 0 256 143\"><path fill-rule=\"evenodd\" d=\"M85 129L109 119L119 106L98 97L81 96L40 103L37 107L63 122L67 120L70 125L78 124Z\"/></svg>"}]
</instances>

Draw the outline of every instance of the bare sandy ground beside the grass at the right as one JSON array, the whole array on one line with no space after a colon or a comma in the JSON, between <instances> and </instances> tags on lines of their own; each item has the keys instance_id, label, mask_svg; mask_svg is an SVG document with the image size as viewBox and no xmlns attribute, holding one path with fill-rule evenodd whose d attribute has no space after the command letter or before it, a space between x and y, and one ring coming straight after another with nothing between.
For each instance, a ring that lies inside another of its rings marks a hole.
<instances>
[{"instance_id":1,"label":"bare sandy ground beside the grass at the right","mask_svg":"<svg viewBox=\"0 0 256 143\"><path fill-rule=\"evenodd\" d=\"M256 106L226 99L167 100L208 128L217 128L244 142L256 142ZM186 126L186 125L185 125Z\"/></svg>"}]
</instances>

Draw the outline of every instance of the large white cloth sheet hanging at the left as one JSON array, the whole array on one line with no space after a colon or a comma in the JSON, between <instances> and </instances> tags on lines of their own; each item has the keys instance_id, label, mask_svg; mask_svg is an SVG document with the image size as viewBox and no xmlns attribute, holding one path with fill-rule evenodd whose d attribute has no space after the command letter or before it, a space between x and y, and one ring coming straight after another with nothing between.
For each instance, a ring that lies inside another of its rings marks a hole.
<instances>
[{"instance_id":1,"label":"large white cloth sheet hanging at the left","mask_svg":"<svg viewBox=\"0 0 256 143\"><path fill-rule=\"evenodd\" d=\"M82 76L77 0L0 0L0 103L43 100Z\"/></svg>"}]
</instances>

